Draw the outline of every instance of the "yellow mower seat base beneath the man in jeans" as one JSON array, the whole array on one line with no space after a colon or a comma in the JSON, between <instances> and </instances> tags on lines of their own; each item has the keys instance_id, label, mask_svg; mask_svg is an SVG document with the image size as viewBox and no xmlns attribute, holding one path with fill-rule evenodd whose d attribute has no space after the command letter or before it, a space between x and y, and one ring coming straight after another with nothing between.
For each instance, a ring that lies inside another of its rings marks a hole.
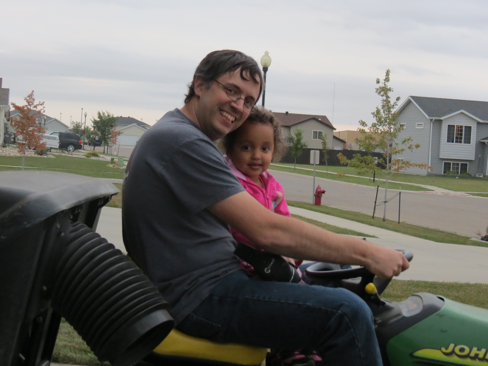
<instances>
[{"instance_id":1,"label":"yellow mower seat base beneath the man in jeans","mask_svg":"<svg viewBox=\"0 0 488 366\"><path fill-rule=\"evenodd\" d=\"M266 358L267 351L267 348L212 342L203 338L191 337L176 329L173 329L154 349L154 352L161 355L191 357L238 365L260 365Z\"/></svg>"}]
</instances>

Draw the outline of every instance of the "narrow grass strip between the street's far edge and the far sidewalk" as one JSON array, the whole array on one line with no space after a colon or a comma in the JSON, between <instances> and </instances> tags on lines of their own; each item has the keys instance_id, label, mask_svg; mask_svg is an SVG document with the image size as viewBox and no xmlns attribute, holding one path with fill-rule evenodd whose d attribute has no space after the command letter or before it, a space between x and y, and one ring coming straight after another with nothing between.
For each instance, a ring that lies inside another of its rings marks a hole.
<instances>
[{"instance_id":1,"label":"narrow grass strip between the street's far edge and the far sidewalk","mask_svg":"<svg viewBox=\"0 0 488 366\"><path fill-rule=\"evenodd\" d=\"M287 164L287 165L289 165L289 164ZM313 171L303 170L303 169L295 169L294 170L293 164L291 164L291 165L292 165L291 167L270 165L269 169L279 170L282 172L290 172L290 173L297 173L297 174L313 176ZM313 169L313 165L304 165L303 167L309 168L310 166L312 166L312 169ZM298 167L298 164L297 164L297 167ZM324 166L324 168L325 168L325 166ZM351 168L342 167L342 166L336 166L335 168L351 169ZM342 173L342 172L339 172L339 173ZM347 174L350 174L350 173L347 172ZM331 179L334 181L342 181L342 182L348 182L348 183L369 185L371 187L376 187L377 185L380 185L380 188L385 188L385 182L380 182L378 180L373 182L372 178L371 179L365 179L365 178L361 178L361 177L348 177L348 176L338 177L337 174L332 174L332 173L327 174L325 171L319 171L318 169L316 171L315 176L318 178ZM378 176L377 176L377 178L378 178ZM390 189L399 189L400 187L402 187L403 190L409 190L409 191L429 191L430 190L428 188L423 188L423 187L420 187L418 185L411 185L411 184L407 184L407 183L391 183L391 182L388 182L388 188L390 188Z\"/></svg>"}]
</instances>

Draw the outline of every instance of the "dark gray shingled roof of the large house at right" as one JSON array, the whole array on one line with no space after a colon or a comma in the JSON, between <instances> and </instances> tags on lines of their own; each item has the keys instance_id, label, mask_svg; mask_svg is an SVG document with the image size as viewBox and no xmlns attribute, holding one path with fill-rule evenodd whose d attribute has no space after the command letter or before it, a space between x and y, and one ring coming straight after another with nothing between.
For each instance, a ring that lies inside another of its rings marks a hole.
<instances>
[{"instance_id":1,"label":"dark gray shingled roof of the large house at right","mask_svg":"<svg viewBox=\"0 0 488 366\"><path fill-rule=\"evenodd\" d=\"M400 112L410 101L414 102L427 118L444 119L463 112L477 120L488 121L488 102L409 96L398 111Z\"/></svg>"}]
</instances>

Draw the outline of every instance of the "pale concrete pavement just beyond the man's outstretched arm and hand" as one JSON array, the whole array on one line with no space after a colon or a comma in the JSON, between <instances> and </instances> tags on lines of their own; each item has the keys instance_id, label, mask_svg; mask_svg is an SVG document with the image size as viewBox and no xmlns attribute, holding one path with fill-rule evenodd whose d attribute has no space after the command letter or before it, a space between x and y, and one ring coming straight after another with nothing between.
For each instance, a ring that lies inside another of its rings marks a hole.
<instances>
[{"instance_id":1,"label":"pale concrete pavement just beyond the man's outstretched arm and hand","mask_svg":"<svg viewBox=\"0 0 488 366\"><path fill-rule=\"evenodd\" d=\"M292 214L308 219L377 236L378 239L366 238L373 244L392 249L410 249L414 257L410 268L398 277L400 280L488 284L488 248L436 243L303 208L289 209Z\"/></svg>"}]
</instances>

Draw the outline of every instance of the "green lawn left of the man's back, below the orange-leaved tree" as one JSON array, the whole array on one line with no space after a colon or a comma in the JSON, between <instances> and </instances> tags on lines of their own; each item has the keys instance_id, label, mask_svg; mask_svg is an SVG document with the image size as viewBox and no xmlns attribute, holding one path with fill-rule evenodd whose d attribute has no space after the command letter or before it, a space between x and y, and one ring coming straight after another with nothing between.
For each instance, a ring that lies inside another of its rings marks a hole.
<instances>
[{"instance_id":1,"label":"green lawn left of the man's back, below the orange-leaved tree","mask_svg":"<svg viewBox=\"0 0 488 366\"><path fill-rule=\"evenodd\" d=\"M124 170L107 166L107 161L77 158L68 155L53 156L54 158L25 157L25 169L42 168L42 170L61 171L95 178L123 178ZM0 170L20 170L20 168L13 166L21 166L22 157L0 156L0 165L9 165L0 166Z\"/></svg>"}]
</instances>

